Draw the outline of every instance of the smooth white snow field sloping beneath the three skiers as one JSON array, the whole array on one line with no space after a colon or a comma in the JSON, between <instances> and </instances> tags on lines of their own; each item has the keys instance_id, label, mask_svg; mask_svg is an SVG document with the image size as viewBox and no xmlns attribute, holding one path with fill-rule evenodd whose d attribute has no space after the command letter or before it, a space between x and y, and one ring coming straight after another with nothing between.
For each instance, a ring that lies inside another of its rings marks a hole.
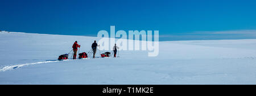
<instances>
[{"instance_id":1,"label":"smooth white snow field sloping beneath the three skiers","mask_svg":"<svg viewBox=\"0 0 256 96\"><path fill-rule=\"evenodd\" d=\"M256 84L256 40L161 41L156 57L56 60L75 41L88 53L99 39L0 32L0 84Z\"/></svg>"}]
</instances>

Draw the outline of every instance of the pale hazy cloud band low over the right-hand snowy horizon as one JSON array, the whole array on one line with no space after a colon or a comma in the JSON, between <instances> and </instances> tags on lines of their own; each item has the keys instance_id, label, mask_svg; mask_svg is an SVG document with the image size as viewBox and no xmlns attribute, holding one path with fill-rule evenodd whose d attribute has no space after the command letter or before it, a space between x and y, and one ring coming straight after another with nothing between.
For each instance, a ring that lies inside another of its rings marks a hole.
<instances>
[{"instance_id":1,"label":"pale hazy cloud band low over the right-hand snowy horizon","mask_svg":"<svg viewBox=\"0 0 256 96\"><path fill-rule=\"evenodd\" d=\"M256 30L195 31L175 35L160 35L159 38L160 41L256 39Z\"/></svg>"}]
</instances>

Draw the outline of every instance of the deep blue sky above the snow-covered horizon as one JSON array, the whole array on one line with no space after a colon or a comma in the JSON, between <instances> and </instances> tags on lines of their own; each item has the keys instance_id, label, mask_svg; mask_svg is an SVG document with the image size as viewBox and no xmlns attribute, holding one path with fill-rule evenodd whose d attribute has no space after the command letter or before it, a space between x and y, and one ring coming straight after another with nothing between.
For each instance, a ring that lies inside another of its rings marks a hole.
<instances>
[{"instance_id":1,"label":"deep blue sky above the snow-covered horizon","mask_svg":"<svg viewBox=\"0 0 256 96\"><path fill-rule=\"evenodd\" d=\"M256 1L1 0L0 3L0 30L11 32L97 36L99 30L110 31L110 25L115 25L116 30L126 32L159 30L160 40L256 38Z\"/></svg>"}]
</instances>

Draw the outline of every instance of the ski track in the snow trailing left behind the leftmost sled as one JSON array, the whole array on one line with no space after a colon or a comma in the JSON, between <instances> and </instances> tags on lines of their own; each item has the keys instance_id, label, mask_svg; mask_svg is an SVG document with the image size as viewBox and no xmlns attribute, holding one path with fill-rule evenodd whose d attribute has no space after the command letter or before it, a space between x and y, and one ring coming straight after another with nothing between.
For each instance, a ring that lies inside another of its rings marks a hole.
<instances>
[{"instance_id":1,"label":"ski track in the snow trailing left behind the leftmost sled","mask_svg":"<svg viewBox=\"0 0 256 96\"><path fill-rule=\"evenodd\" d=\"M51 63L51 62L60 62L60 60L36 62L36 63L26 63L26 64L17 64L17 65L14 65L14 66L5 66L5 67L0 68L0 72L5 72L5 71L8 71L10 69L15 69L15 68L19 68L19 67L23 67L23 66L28 66L28 65L32 65L32 64Z\"/></svg>"}]
</instances>

